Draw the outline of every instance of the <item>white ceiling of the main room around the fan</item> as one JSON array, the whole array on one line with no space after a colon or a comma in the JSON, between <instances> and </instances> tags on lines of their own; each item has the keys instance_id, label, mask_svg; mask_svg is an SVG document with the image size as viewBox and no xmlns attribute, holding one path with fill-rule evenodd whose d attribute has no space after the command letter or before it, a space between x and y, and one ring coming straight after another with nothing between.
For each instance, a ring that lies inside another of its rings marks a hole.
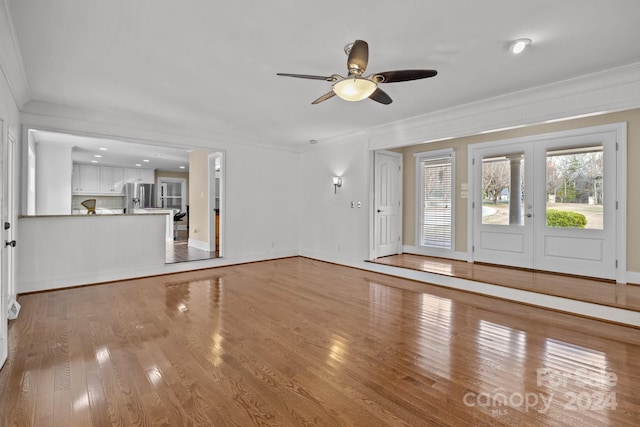
<instances>
[{"instance_id":1,"label":"white ceiling of the main room around the fan","mask_svg":"<svg viewBox=\"0 0 640 427\"><path fill-rule=\"evenodd\" d=\"M640 61L637 0L8 0L34 101L295 149L421 114ZM528 37L520 56L510 40ZM391 105L334 97L343 47L369 43Z\"/></svg>"}]
</instances>

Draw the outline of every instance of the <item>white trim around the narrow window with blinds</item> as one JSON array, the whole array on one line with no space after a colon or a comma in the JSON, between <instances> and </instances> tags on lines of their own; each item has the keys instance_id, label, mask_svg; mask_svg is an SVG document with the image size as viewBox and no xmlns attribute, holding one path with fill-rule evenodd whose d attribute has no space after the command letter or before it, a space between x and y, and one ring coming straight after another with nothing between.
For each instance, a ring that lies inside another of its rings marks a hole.
<instances>
[{"instance_id":1,"label":"white trim around the narrow window with blinds","mask_svg":"<svg viewBox=\"0 0 640 427\"><path fill-rule=\"evenodd\" d=\"M425 251L434 252L434 254L451 254L456 250L456 150L455 148L445 148L442 150L423 151L415 153L415 200L416 200L416 219L415 219L415 243L416 247ZM422 174L422 162L429 160L437 160L442 158L451 159L451 246L449 248L439 246L424 245L423 242L423 194L424 194L424 177Z\"/></svg>"}]
</instances>

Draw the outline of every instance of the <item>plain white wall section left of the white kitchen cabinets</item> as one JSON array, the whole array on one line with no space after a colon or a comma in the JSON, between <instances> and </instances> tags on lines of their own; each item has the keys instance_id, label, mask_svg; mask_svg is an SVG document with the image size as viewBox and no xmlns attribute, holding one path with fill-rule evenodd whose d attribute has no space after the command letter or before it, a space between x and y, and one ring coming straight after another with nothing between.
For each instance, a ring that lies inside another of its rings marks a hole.
<instances>
[{"instance_id":1,"label":"plain white wall section left of the white kitchen cabinets","mask_svg":"<svg viewBox=\"0 0 640 427\"><path fill-rule=\"evenodd\" d=\"M36 215L71 214L71 147L36 144Z\"/></svg>"}]
</instances>

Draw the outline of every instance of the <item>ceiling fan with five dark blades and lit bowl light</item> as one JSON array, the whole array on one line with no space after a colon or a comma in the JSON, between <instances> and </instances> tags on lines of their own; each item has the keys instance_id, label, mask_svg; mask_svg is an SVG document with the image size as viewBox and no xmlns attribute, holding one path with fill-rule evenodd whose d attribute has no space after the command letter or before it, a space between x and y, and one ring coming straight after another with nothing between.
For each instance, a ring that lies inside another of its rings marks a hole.
<instances>
[{"instance_id":1,"label":"ceiling fan with five dark blades and lit bowl light","mask_svg":"<svg viewBox=\"0 0 640 427\"><path fill-rule=\"evenodd\" d=\"M388 105L391 104L393 100L385 91L378 87L378 84L426 79L427 77L433 77L438 74L436 70L396 70L384 71L363 77L364 71L367 69L367 62L369 62L369 45L367 42L364 40L356 40L353 43L349 43L345 46L344 52L349 56L347 59L349 74L347 77L342 77L339 74L314 76L309 74L277 73L277 75L331 82L332 90L314 100L312 104L319 104L322 101L338 95L347 101L361 101L369 98L381 104Z\"/></svg>"}]
</instances>

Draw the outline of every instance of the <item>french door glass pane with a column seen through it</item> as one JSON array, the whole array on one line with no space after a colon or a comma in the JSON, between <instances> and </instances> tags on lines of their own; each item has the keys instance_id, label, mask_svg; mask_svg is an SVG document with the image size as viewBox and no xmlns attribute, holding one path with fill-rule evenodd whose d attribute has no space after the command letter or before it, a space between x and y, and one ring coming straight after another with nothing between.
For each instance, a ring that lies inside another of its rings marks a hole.
<instances>
[{"instance_id":1,"label":"french door glass pane with a column seen through it","mask_svg":"<svg viewBox=\"0 0 640 427\"><path fill-rule=\"evenodd\" d=\"M482 223L524 225L524 188L522 154L483 158Z\"/></svg>"}]
</instances>

